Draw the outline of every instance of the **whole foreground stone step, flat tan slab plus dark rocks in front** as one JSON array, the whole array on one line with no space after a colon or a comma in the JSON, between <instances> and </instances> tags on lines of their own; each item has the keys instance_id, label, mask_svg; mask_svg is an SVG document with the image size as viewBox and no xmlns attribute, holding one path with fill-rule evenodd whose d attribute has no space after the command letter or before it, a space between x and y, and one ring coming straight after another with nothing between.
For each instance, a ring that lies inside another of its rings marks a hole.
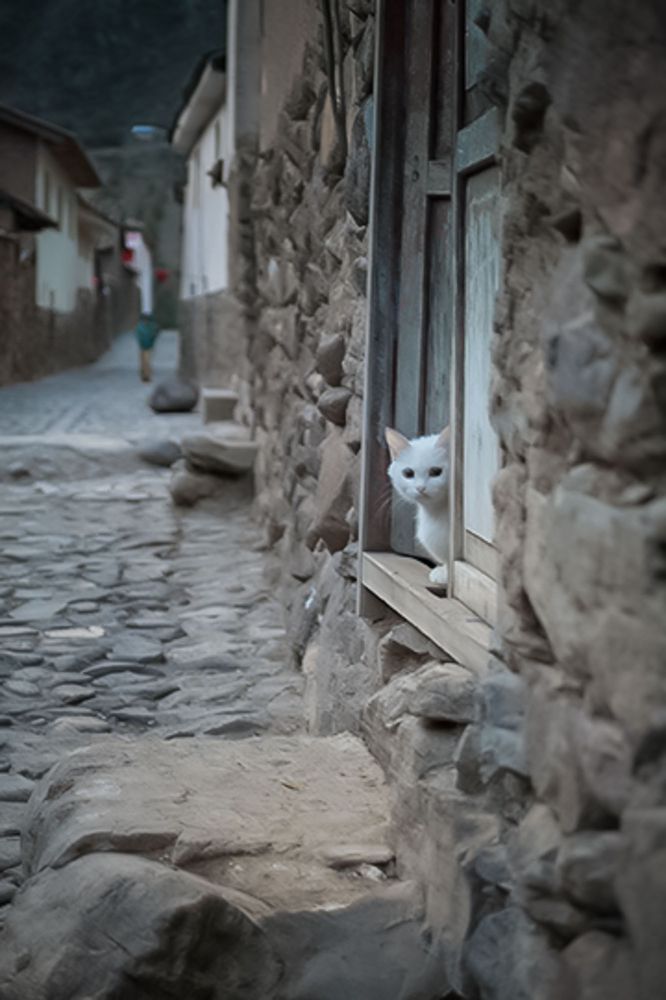
<instances>
[{"instance_id":1,"label":"whole foreground stone step, flat tan slab plus dark rocks in front","mask_svg":"<svg viewBox=\"0 0 666 1000\"><path fill-rule=\"evenodd\" d=\"M138 1000L196 981L219 1000L439 1000L420 892L390 877L387 815L349 735L76 752L28 805L0 995Z\"/></svg>"}]
</instances>

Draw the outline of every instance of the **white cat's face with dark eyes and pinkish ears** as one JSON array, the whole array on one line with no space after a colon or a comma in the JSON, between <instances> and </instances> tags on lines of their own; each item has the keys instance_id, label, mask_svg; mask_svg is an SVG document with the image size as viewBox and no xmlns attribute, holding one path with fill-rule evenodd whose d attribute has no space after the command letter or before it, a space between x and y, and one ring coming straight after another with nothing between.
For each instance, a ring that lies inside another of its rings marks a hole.
<instances>
[{"instance_id":1,"label":"white cat's face with dark eyes and pinkish ears","mask_svg":"<svg viewBox=\"0 0 666 1000\"><path fill-rule=\"evenodd\" d=\"M400 496L424 506L445 504L449 496L449 428L411 441L387 428L386 441L393 460L388 474Z\"/></svg>"}]
</instances>

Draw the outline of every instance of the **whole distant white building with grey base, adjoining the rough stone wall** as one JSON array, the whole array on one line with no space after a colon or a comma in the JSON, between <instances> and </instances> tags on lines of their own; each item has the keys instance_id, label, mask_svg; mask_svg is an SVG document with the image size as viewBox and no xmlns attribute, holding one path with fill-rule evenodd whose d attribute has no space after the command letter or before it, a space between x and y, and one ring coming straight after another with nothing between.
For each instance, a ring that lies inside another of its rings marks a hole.
<instances>
[{"instance_id":1,"label":"whole distant white building with grey base, adjoining the rough stone wall","mask_svg":"<svg viewBox=\"0 0 666 1000\"><path fill-rule=\"evenodd\" d=\"M224 384L235 365L230 345L211 337L235 315L229 296L231 132L226 104L226 59L207 54L196 67L171 129L174 149L187 161L183 192L180 325L188 374Z\"/></svg>"}]
</instances>

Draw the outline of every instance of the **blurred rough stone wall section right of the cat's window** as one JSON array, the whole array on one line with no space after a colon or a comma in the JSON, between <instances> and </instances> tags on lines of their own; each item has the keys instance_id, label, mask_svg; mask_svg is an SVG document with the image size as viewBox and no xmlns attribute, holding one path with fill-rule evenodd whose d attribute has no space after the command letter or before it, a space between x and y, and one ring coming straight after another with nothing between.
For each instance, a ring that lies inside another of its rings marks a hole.
<instances>
[{"instance_id":1,"label":"blurred rough stone wall section right of the cat's window","mask_svg":"<svg viewBox=\"0 0 666 1000\"><path fill-rule=\"evenodd\" d=\"M647 1000L666 972L666 18L510 0L489 38L507 107L496 679L526 687L530 790L506 831L512 905L471 954L518 920L523 954L550 949L549 995Z\"/></svg>"}]
</instances>

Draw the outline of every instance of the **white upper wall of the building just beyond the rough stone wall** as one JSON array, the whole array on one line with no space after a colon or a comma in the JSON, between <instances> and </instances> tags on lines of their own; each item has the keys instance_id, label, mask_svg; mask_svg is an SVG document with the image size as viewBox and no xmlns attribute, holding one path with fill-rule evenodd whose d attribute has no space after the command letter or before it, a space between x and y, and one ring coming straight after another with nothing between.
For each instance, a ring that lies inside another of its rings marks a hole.
<instances>
[{"instance_id":1,"label":"white upper wall of the building just beyond the rough stone wall","mask_svg":"<svg viewBox=\"0 0 666 1000\"><path fill-rule=\"evenodd\" d=\"M208 171L217 160L229 168L229 119L225 108L213 116L187 160L183 209L181 298L227 288L229 283L229 198L213 186Z\"/></svg>"}]
</instances>

